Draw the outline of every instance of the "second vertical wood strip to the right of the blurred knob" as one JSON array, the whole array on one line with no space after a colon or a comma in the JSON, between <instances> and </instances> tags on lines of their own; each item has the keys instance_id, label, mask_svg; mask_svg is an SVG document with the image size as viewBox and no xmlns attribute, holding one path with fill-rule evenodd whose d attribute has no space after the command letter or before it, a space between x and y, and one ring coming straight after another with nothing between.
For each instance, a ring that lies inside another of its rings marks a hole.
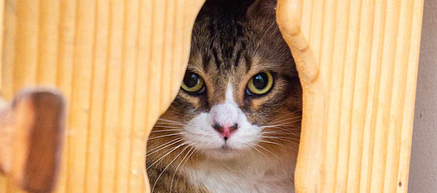
<instances>
[{"instance_id":1,"label":"second vertical wood strip to the right of the blurred knob","mask_svg":"<svg viewBox=\"0 0 437 193\"><path fill-rule=\"evenodd\" d=\"M102 136L103 136L103 113L105 108L105 86L108 53L108 26L109 26L109 1L96 1L96 22L93 34L93 58L92 58L92 90L90 101L88 149L86 152L86 170L84 192L99 192L101 181Z\"/></svg>"}]
</instances>

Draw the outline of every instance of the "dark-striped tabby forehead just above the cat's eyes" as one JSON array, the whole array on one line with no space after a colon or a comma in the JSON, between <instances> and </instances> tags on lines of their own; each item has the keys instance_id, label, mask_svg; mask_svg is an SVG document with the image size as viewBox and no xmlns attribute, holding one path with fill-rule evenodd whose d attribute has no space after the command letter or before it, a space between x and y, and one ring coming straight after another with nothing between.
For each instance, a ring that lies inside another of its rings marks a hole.
<instances>
[{"instance_id":1,"label":"dark-striped tabby forehead just above the cat's eyes","mask_svg":"<svg viewBox=\"0 0 437 193\"><path fill-rule=\"evenodd\" d=\"M280 71L290 65L293 57L274 17L262 21L204 17L195 22L189 68L241 74L252 68Z\"/></svg>"}]
</instances>

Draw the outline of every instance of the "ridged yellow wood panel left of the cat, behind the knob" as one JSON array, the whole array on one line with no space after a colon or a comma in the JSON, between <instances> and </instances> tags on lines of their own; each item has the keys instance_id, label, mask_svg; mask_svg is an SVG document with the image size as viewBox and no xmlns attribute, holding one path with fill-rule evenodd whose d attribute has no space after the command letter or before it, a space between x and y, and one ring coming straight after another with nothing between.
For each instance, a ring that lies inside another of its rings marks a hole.
<instances>
[{"instance_id":1,"label":"ridged yellow wood panel left of the cat, behind the knob","mask_svg":"<svg viewBox=\"0 0 437 193\"><path fill-rule=\"evenodd\" d=\"M180 87L204 1L2 2L1 96L34 85L65 96L54 192L147 192L145 142ZM0 177L0 192L23 191Z\"/></svg>"}]
</instances>

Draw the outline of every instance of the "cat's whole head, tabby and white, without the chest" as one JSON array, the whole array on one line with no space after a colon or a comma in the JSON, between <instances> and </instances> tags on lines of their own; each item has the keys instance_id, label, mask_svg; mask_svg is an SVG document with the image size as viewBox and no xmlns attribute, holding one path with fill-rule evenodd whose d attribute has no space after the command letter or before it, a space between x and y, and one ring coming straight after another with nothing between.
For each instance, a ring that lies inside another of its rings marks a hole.
<instances>
[{"instance_id":1,"label":"cat's whole head, tabby and white, without the chest","mask_svg":"<svg viewBox=\"0 0 437 193\"><path fill-rule=\"evenodd\" d=\"M207 1L200 11L181 89L155 124L152 146L222 159L297 147L302 91L276 2L229 2Z\"/></svg>"}]
</instances>

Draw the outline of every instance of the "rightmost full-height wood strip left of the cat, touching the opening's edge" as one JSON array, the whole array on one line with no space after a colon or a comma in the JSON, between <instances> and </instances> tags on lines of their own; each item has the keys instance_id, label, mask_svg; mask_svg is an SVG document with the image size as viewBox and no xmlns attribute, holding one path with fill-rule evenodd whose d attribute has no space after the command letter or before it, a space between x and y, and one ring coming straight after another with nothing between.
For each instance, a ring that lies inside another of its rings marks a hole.
<instances>
[{"instance_id":1,"label":"rightmost full-height wood strip left of the cat, touching the opening's edge","mask_svg":"<svg viewBox=\"0 0 437 193\"><path fill-rule=\"evenodd\" d=\"M135 111L133 118L133 131L132 131L132 153L131 168L130 168L130 192L148 192L145 187L148 187L146 183L147 175L145 175L144 160L141 159L145 155L144 141L146 139L146 131L144 128L148 128L151 125L147 123L148 108L148 90L150 88L149 67L145 65L150 63L150 51L148 50L151 36L150 30L152 30L152 13L153 2L141 0L139 2L139 19L138 19L138 42L137 42L137 55L136 55L136 82L135 82Z\"/></svg>"}]
</instances>

